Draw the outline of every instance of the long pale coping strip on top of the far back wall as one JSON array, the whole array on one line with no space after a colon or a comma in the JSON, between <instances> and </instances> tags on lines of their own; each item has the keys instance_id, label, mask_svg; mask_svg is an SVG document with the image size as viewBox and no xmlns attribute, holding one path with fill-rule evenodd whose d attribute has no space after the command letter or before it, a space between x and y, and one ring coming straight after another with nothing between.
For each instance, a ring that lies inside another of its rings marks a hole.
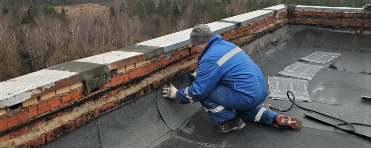
<instances>
[{"instance_id":1,"label":"long pale coping strip on top of the far back wall","mask_svg":"<svg viewBox=\"0 0 371 148\"><path fill-rule=\"evenodd\" d=\"M295 9L363 12L363 8L352 8L352 7L322 7L322 6L302 6L302 5L298 5L298 6L295 7Z\"/></svg>"}]
</instances>

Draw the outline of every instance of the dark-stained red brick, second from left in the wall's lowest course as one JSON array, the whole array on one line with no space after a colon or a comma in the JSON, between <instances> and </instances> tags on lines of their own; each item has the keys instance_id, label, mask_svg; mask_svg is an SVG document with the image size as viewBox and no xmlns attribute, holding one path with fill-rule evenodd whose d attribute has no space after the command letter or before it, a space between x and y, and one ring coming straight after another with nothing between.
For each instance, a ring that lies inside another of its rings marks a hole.
<instances>
[{"instance_id":1,"label":"dark-stained red brick, second from left in the wall's lowest course","mask_svg":"<svg viewBox=\"0 0 371 148\"><path fill-rule=\"evenodd\" d=\"M60 127L57 127L55 129L52 129L51 131L46 133L46 141L52 141L53 139L69 132L75 129L75 120L68 121L67 123L61 125Z\"/></svg>"}]
</instances>

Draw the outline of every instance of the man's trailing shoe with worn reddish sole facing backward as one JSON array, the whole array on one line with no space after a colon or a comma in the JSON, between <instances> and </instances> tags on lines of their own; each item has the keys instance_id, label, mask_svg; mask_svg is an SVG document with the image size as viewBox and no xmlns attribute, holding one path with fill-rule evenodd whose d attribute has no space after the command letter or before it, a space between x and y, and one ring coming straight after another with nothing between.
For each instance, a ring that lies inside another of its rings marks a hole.
<instances>
[{"instance_id":1,"label":"man's trailing shoe with worn reddish sole facing backward","mask_svg":"<svg viewBox=\"0 0 371 148\"><path fill-rule=\"evenodd\" d=\"M278 115L273 117L273 123L278 124L280 127L288 127L295 130L301 129L301 121L296 117L288 117L286 115Z\"/></svg>"}]
</instances>

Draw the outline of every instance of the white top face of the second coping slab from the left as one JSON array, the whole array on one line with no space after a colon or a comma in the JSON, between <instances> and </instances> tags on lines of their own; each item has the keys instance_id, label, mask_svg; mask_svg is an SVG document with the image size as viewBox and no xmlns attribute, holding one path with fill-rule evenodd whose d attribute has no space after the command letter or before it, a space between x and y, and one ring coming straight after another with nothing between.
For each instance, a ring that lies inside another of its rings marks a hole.
<instances>
[{"instance_id":1,"label":"white top face of the second coping slab from the left","mask_svg":"<svg viewBox=\"0 0 371 148\"><path fill-rule=\"evenodd\" d=\"M102 53L102 54L82 58L82 59L75 60L75 61L107 65L109 63L119 61L119 60L122 60L124 58L133 57L133 56L139 55L139 54L143 54L143 53L127 52L127 51L110 51L108 53ZM131 64L131 63L129 63L129 64ZM109 69L112 70L111 67L109 67Z\"/></svg>"}]
</instances>

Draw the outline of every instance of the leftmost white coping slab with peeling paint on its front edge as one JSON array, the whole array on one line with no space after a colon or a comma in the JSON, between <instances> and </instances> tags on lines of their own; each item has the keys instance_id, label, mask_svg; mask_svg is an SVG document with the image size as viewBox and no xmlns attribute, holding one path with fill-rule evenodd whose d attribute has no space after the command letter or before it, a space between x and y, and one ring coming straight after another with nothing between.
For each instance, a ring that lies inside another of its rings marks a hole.
<instances>
[{"instance_id":1,"label":"leftmost white coping slab with peeling paint on its front edge","mask_svg":"<svg viewBox=\"0 0 371 148\"><path fill-rule=\"evenodd\" d=\"M59 70L39 70L0 82L0 108L9 107L40 94L55 85L56 81L79 73ZM36 89L42 87L43 90ZM31 90L31 92L29 92Z\"/></svg>"}]
</instances>

